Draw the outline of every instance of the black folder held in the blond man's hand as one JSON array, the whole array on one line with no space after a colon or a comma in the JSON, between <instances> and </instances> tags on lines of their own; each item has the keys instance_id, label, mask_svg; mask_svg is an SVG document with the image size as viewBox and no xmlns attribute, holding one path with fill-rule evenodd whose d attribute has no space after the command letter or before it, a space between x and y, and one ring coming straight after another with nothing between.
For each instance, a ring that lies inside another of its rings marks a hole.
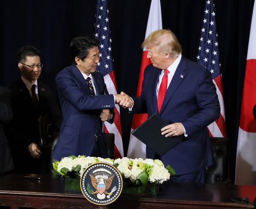
<instances>
[{"instance_id":1,"label":"black folder held in the blond man's hand","mask_svg":"<svg viewBox=\"0 0 256 209\"><path fill-rule=\"evenodd\" d=\"M154 114L132 131L132 134L157 154L163 155L169 149L180 143L184 137L183 135L173 137L162 135L161 129L167 125L168 123L165 120L159 115Z\"/></svg>"}]
</instances>

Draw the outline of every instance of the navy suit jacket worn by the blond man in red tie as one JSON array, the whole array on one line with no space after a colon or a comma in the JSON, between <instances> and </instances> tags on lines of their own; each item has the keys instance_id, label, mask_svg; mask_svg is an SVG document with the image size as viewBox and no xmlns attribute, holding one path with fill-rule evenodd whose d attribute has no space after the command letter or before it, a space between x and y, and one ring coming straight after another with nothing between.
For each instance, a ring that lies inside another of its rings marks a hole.
<instances>
[{"instance_id":1,"label":"navy suit jacket worn by the blond man in red tie","mask_svg":"<svg viewBox=\"0 0 256 209\"><path fill-rule=\"evenodd\" d=\"M160 73L152 64L145 69L141 95L133 98L134 113L158 114L156 85ZM182 123L188 136L161 156L163 163L171 165L177 175L211 165L212 150L206 127L219 117L219 113L219 101L210 72L182 57L159 115L169 124ZM154 155L147 147L147 158L154 158Z\"/></svg>"}]
</instances>

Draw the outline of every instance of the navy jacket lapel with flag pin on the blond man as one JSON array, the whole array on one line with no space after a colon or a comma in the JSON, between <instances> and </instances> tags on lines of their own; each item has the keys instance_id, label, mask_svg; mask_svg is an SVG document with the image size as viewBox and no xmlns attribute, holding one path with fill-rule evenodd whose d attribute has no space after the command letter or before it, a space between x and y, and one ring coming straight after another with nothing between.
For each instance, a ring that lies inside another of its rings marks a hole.
<instances>
[{"instance_id":1,"label":"navy jacket lapel with flag pin on the blond man","mask_svg":"<svg viewBox=\"0 0 256 209\"><path fill-rule=\"evenodd\" d=\"M162 114L162 112L166 108L168 102L170 101L173 93L177 90L178 86L180 85L180 83L183 81L183 79L187 75L186 68L187 68L186 59L182 57L179 65L178 65L178 67L176 69L176 72L174 73L174 76L173 76L173 78L171 80L171 83L168 86L168 89L166 91L165 99L163 101L163 105L162 105L162 108L161 108L161 110L159 112L159 115Z\"/></svg>"}]
</instances>

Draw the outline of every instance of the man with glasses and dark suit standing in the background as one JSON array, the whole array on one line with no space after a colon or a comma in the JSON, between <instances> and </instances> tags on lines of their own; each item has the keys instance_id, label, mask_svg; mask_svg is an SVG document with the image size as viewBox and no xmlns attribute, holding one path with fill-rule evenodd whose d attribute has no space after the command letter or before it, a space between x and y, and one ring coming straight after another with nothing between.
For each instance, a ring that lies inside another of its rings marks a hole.
<instances>
[{"instance_id":1,"label":"man with glasses and dark suit standing in the background","mask_svg":"<svg viewBox=\"0 0 256 209\"><path fill-rule=\"evenodd\" d=\"M34 46L20 48L18 61L21 78L9 85L13 118L6 126L14 169L49 172L50 129L59 129L61 113L49 86L38 81L43 67L39 50Z\"/></svg>"}]
</instances>

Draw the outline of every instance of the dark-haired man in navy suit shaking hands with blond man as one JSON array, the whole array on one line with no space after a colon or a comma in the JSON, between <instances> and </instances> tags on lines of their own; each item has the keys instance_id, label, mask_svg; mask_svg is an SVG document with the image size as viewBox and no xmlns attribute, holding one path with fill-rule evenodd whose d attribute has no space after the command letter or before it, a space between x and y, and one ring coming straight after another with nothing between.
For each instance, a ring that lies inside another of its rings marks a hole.
<instances>
[{"instance_id":1,"label":"dark-haired man in navy suit shaking hands with blond man","mask_svg":"<svg viewBox=\"0 0 256 209\"><path fill-rule=\"evenodd\" d=\"M115 101L124 96L109 95L102 74L96 71L98 45L92 37L74 38L70 44L74 64L56 76L63 123L55 160L69 155L107 157L102 122L113 123Z\"/></svg>"}]
</instances>

